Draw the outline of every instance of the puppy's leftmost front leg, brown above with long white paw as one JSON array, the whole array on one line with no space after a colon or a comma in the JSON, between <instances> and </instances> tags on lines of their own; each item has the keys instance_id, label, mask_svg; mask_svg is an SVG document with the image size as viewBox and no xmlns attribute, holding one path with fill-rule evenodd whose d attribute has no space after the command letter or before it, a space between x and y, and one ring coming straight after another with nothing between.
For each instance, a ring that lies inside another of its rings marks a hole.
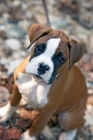
<instances>
[{"instance_id":1,"label":"puppy's leftmost front leg, brown above with long white paw","mask_svg":"<svg viewBox=\"0 0 93 140\"><path fill-rule=\"evenodd\" d=\"M8 102L7 105L0 108L0 123L7 121L12 116L18 106L20 99L21 95L18 91L16 84L14 84L11 100Z\"/></svg>"}]
</instances>

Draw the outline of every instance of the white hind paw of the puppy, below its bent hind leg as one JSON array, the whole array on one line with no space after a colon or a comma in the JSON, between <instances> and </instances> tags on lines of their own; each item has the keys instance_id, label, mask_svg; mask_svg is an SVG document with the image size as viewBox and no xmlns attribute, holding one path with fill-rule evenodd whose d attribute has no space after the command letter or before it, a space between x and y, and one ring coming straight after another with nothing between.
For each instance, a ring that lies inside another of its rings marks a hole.
<instances>
[{"instance_id":1,"label":"white hind paw of the puppy, below its bent hind leg","mask_svg":"<svg viewBox=\"0 0 93 140\"><path fill-rule=\"evenodd\" d=\"M62 132L59 136L59 140L74 140L76 134L77 134L77 129L74 129L72 131Z\"/></svg>"}]
</instances>

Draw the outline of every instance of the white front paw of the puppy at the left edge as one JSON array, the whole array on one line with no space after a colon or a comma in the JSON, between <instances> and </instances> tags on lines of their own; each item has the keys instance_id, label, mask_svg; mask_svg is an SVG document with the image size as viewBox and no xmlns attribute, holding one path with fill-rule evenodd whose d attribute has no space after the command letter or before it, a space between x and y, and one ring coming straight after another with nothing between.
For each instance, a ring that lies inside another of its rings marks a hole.
<instances>
[{"instance_id":1,"label":"white front paw of the puppy at the left edge","mask_svg":"<svg viewBox=\"0 0 93 140\"><path fill-rule=\"evenodd\" d=\"M10 103L0 108L0 123L7 121L14 113L16 107L12 107Z\"/></svg>"}]
</instances>

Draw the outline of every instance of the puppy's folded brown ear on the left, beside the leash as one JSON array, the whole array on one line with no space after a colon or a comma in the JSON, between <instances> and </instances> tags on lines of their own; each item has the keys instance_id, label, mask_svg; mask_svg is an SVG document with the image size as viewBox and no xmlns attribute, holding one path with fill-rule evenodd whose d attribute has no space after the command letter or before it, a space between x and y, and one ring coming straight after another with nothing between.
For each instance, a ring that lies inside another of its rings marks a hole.
<instances>
[{"instance_id":1,"label":"puppy's folded brown ear on the left, beside the leash","mask_svg":"<svg viewBox=\"0 0 93 140\"><path fill-rule=\"evenodd\" d=\"M31 47L31 45L40 37L47 35L52 29L45 25L33 24L29 31L29 39L30 45L27 49Z\"/></svg>"}]
</instances>

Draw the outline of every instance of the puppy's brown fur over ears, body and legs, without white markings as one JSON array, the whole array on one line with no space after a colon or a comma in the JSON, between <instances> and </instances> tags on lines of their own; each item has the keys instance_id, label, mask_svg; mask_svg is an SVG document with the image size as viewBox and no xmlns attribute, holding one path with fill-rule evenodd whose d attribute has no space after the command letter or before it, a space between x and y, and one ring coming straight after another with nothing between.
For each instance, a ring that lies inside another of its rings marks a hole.
<instances>
[{"instance_id":1,"label":"puppy's brown fur over ears, body and legs, without white markings","mask_svg":"<svg viewBox=\"0 0 93 140\"><path fill-rule=\"evenodd\" d=\"M59 115L59 122L66 130L80 128L84 124L83 117L86 108L87 89L80 70L75 65L72 66L82 57L84 48L75 40L69 39L61 31L52 30L49 27L38 24L33 25L30 29L31 44L36 40L36 43L44 43L53 37L61 38L59 49L62 47L67 60L58 71L60 76L51 85L48 93L48 104L41 109L39 116L34 120L30 128L29 133L31 136L38 136L53 114ZM19 72L25 73L29 58L30 56L16 69L14 74L15 80ZM20 99L21 95L16 84L14 84L11 105L18 105Z\"/></svg>"}]
</instances>

